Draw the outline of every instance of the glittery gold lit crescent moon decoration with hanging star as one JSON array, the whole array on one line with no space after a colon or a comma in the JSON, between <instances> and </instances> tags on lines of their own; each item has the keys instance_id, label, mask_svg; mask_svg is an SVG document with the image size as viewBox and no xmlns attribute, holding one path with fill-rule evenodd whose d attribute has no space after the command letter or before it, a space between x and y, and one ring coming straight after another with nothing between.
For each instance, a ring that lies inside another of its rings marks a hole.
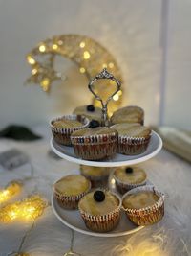
<instances>
[{"instance_id":1,"label":"glittery gold lit crescent moon decoration with hanging star","mask_svg":"<svg viewBox=\"0 0 191 256\"><path fill-rule=\"evenodd\" d=\"M79 68L79 72L87 76L89 80L95 77L103 68L112 72L119 81L122 82L121 72L117 66L117 61L106 48L96 40L85 35L58 35L40 42L27 55L27 61L32 67L32 75L27 79L28 83L36 83L43 91L50 92L53 81L63 80L63 74L54 69L55 56L59 55L72 59ZM97 93L104 98L106 94L111 94L112 81L104 84L101 88L97 86ZM113 90L113 89L112 89ZM109 113L112 114L121 104L122 90L118 91L109 105ZM99 103L94 99L94 104Z\"/></svg>"}]
</instances>

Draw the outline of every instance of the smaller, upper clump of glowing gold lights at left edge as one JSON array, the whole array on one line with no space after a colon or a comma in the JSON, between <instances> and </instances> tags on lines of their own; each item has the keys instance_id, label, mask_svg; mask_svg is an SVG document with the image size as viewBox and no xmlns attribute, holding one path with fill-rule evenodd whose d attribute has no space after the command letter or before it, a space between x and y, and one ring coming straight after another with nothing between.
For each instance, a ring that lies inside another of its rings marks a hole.
<instances>
[{"instance_id":1,"label":"smaller, upper clump of glowing gold lights at left edge","mask_svg":"<svg viewBox=\"0 0 191 256\"><path fill-rule=\"evenodd\" d=\"M5 189L0 190L0 205L18 195L22 186L23 184L20 181L11 181Z\"/></svg>"}]
</instances>

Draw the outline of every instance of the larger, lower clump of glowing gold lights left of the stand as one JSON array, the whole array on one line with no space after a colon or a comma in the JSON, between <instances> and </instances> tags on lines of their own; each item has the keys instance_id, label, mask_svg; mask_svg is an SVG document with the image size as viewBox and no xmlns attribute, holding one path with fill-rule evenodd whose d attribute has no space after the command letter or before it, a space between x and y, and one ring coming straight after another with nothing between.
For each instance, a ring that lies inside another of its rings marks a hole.
<instances>
[{"instance_id":1,"label":"larger, lower clump of glowing gold lights left of the stand","mask_svg":"<svg viewBox=\"0 0 191 256\"><path fill-rule=\"evenodd\" d=\"M9 223L11 221L34 221L42 215L47 202L39 195L10 203L0 208L0 222Z\"/></svg>"}]
</instances>

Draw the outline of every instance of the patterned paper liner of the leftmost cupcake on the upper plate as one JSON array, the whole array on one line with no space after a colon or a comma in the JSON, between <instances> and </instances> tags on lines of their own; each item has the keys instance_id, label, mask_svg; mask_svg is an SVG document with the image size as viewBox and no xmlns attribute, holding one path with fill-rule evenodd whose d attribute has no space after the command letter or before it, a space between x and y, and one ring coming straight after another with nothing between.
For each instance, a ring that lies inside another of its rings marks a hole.
<instances>
[{"instance_id":1,"label":"patterned paper liner of the leftmost cupcake on the upper plate","mask_svg":"<svg viewBox=\"0 0 191 256\"><path fill-rule=\"evenodd\" d=\"M62 119L68 119L68 120L77 120L79 122L82 122L83 125L80 127L75 128L55 128L53 126L53 122L59 121ZM89 126L89 119L85 116L80 115L64 115L62 117L55 118L51 121L51 129L53 133L53 137L55 141L59 144L71 146L71 134L78 129L87 128Z\"/></svg>"}]
</instances>

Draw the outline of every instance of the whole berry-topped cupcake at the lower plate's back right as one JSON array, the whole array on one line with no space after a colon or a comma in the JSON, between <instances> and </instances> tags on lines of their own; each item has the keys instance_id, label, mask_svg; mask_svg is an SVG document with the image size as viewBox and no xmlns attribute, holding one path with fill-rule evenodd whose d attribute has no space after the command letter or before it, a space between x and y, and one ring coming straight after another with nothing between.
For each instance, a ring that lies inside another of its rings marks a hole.
<instances>
[{"instance_id":1,"label":"whole berry-topped cupcake at the lower plate's back right","mask_svg":"<svg viewBox=\"0 0 191 256\"><path fill-rule=\"evenodd\" d=\"M146 184L147 175L138 166L118 167L114 172L114 179L118 192L121 194Z\"/></svg>"}]
</instances>

